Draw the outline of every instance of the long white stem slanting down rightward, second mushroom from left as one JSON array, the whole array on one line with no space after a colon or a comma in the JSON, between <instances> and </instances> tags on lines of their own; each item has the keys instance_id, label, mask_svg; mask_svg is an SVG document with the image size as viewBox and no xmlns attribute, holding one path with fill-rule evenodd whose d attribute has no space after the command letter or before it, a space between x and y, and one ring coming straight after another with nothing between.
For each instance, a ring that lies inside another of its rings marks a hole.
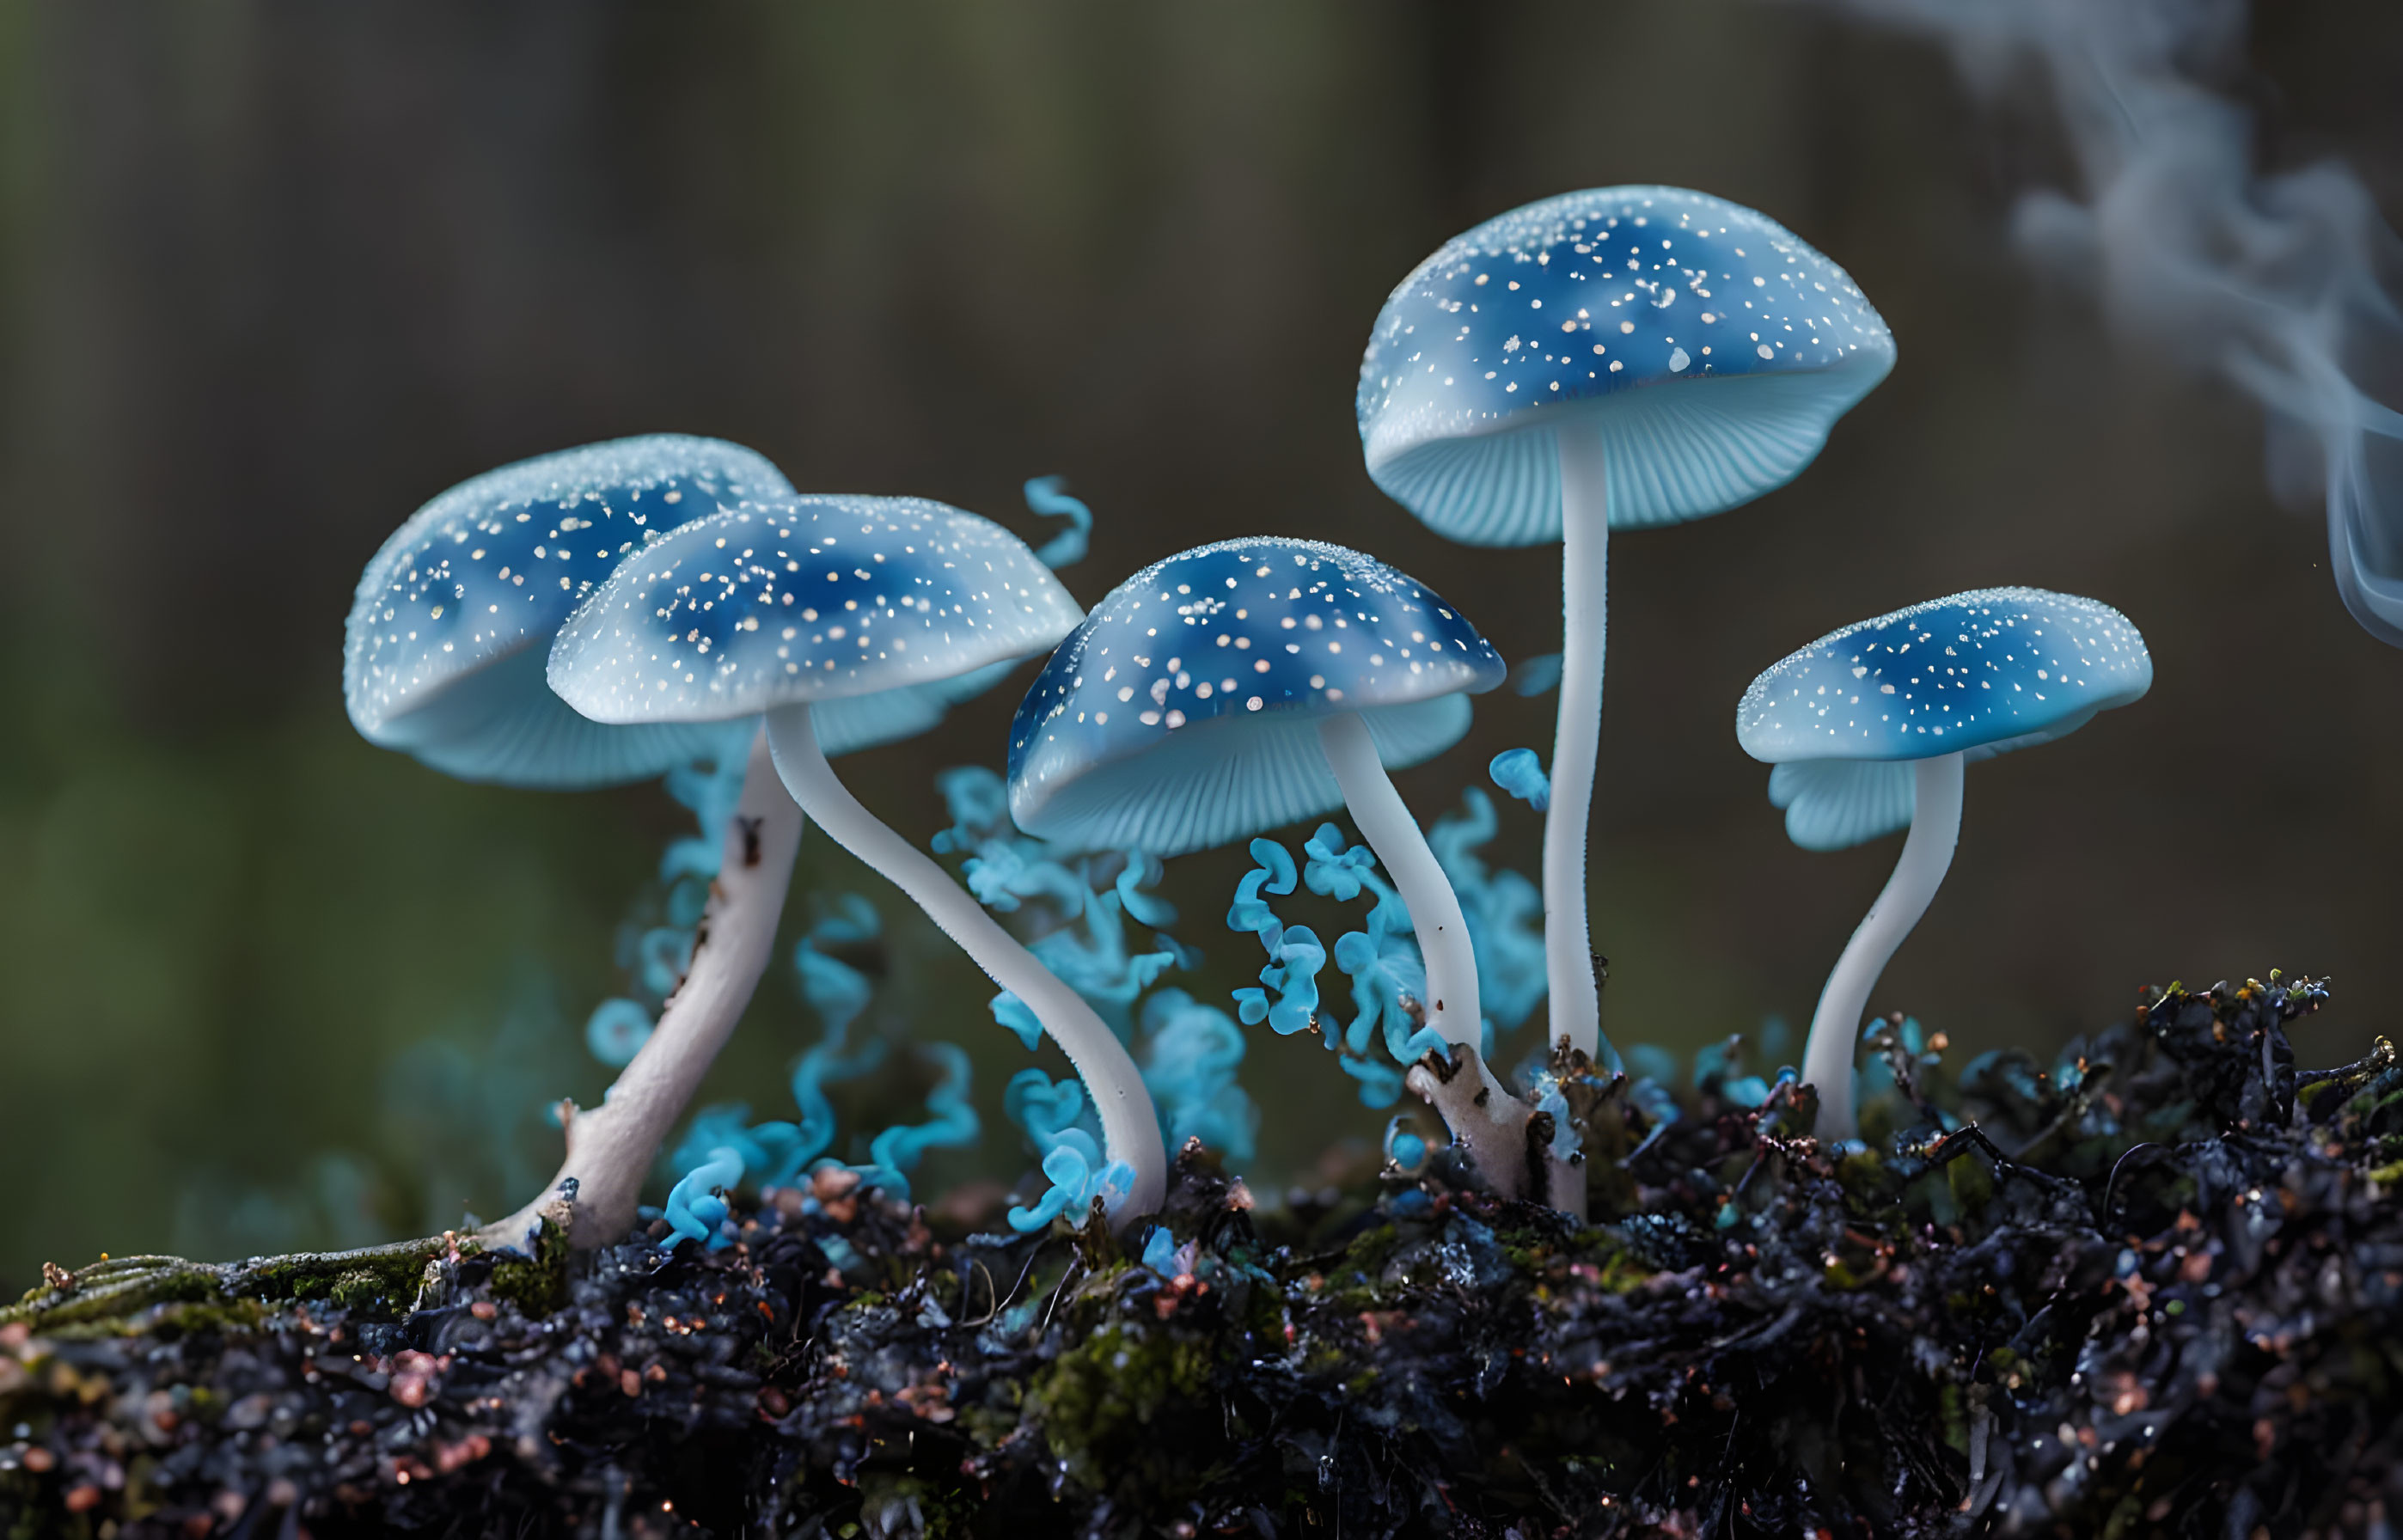
<instances>
[{"instance_id":1,"label":"long white stem slanting down rightward, second mushroom from left","mask_svg":"<svg viewBox=\"0 0 2403 1540\"><path fill-rule=\"evenodd\" d=\"M1134 1170L1110 1218L1127 1225L1161 1206L1168 1189L1168 1153L1161 1148L1161 1122L1151 1110L1144 1076L1127 1045L1093 1014L1081 995L1069 990L1036 961L985 908L935 865L935 858L894 834L877 814L834 776L817 747L810 706L779 706L767 714L767 742L786 790L817 826L834 836L870 867L882 872L925 911L992 983L1016 995L1084 1081L1101 1112L1105 1160L1125 1160Z\"/></svg>"}]
</instances>

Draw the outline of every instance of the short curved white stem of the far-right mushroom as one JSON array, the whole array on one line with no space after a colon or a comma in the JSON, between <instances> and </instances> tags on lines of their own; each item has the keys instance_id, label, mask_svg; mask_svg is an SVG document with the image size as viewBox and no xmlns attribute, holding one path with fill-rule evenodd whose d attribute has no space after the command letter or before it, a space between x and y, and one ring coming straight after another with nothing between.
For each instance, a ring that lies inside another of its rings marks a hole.
<instances>
[{"instance_id":1,"label":"short curved white stem of the far-right mushroom","mask_svg":"<svg viewBox=\"0 0 2403 1540\"><path fill-rule=\"evenodd\" d=\"M1853 939L1843 944L1836 971L1819 990L1819 1009L1809 1019L1809 1043L1802 1047L1802 1081L1819 1088L1819 1139L1858 1139L1853 1110L1853 1045L1860 1040L1862 1009L1877 975L1886 971L1894 949L1927 913L1927 903L1951 870L1961 841L1961 754L1920 759L1913 781L1910 838L1894 877L1862 915Z\"/></svg>"}]
</instances>

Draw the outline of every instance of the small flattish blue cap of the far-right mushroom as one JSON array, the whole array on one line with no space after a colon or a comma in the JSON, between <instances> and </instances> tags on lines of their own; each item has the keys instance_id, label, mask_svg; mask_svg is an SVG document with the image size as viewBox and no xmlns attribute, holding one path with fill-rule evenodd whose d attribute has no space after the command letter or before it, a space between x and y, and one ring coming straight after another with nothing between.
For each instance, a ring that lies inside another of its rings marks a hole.
<instances>
[{"instance_id":1,"label":"small flattish blue cap of the far-right mushroom","mask_svg":"<svg viewBox=\"0 0 2403 1540\"><path fill-rule=\"evenodd\" d=\"M1805 850L1910 824L1910 762L1992 759L2076 733L2153 687L2127 615L2047 589L1978 589L1831 632L1766 668L1735 740Z\"/></svg>"}]
</instances>

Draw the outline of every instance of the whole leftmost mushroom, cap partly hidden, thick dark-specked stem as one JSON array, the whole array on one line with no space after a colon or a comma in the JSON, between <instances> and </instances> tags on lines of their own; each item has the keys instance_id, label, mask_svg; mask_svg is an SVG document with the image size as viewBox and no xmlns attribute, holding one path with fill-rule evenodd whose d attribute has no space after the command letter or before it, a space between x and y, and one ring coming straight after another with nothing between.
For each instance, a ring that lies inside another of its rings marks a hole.
<instances>
[{"instance_id":1,"label":"whole leftmost mushroom, cap partly hidden, thick dark-specked stem","mask_svg":"<svg viewBox=\"0 0 2403 1540\"><path fill-rule=\"evenodd\" d=\"M358 581L344 699L370 742L449 776L531 788L610 786L697 757L750 759L726 819L690 963L658 1026L601 1108L567 1117L577 1247L620 1240L661 1139L767 971L800 848L800 810L747 718L601 726L545 678L567 617L632 553L726 505L788 493L767 459L718 440L651 435L565 449L466 480L418 509ZM521 1244L545 1194L490 1225Z\"/></svg>"}]
</instances>

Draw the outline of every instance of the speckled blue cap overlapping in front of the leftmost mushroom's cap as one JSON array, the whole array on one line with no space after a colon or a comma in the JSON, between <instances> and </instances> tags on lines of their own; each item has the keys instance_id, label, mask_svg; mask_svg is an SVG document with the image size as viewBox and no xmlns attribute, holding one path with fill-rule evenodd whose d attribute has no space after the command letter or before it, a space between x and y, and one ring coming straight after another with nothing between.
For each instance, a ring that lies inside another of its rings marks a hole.
<instances>
[{"instance_id":1,"label":"speckled blue cap overlapping in front of the leftmost mushroom's cap","mask_svg":"<svg viewBox=\"0 0 2403 1540\"><path fill-rule=\"evenodd\" d=\"M1077 615L990 519L925 497L771 497L627 560L560 627L550 687L603 723L810 702L839 754L932 726Z\"/></svg>"}]
</instances>

